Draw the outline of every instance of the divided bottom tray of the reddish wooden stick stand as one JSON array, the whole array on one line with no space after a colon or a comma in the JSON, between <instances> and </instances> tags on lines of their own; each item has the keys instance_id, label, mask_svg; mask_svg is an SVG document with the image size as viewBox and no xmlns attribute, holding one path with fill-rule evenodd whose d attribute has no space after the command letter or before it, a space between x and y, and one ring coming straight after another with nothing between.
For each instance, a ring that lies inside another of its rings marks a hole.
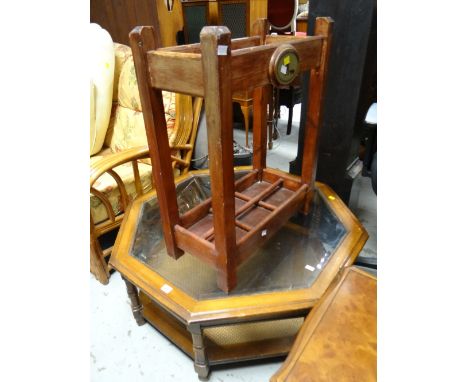
<instances>
[{"instance_id":1,"label":"divided bottom tray of the reddish wooden stick stand","mask_svg":"<svg viewBox=\"0 0 468 382\"><path fill-rule=\"evenodd\" d=\"M236 182L237 266L269 240L303 205L309 187L278 170L253 171ZM179 248L216 265L211 199L181 216L175 235Z\"/></svg>"}]
</instances>

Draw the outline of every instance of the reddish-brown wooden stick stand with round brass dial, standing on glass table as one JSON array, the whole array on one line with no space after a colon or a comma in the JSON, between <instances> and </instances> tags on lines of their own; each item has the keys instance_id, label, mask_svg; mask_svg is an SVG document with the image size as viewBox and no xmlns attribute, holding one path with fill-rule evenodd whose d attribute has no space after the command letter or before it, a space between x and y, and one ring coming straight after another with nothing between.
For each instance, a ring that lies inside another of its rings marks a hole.
<instances>
[{"instance_id":1,"label":"reddish-brown wooden stick stand with round brass dial, standing on glass table","mask_svg":"<svg viewBox=\"0 0 468 382\"><path fill-rule=\"evenodd\" d=\"M204 27L200 44L171 48L160 48L152 27L130 33L167 252L177 258L186 251L215 267L218 286L226 292L236 286L237 267L256 248L298 210L309 211L332 23L318 18L314 36L266 36L267 21L258 20L253 37L232 41L226 27ZM297 58L297 72L310 71L301 178L266 167L268 94L275 69L289 73L286 51ZM283 61L277 66L283 58L286 69ZM205 98L212 197L183 215L178 213L161 89ZM234 182L232 95L249 89L253 172Z\"/></svg>"}]
</instances>

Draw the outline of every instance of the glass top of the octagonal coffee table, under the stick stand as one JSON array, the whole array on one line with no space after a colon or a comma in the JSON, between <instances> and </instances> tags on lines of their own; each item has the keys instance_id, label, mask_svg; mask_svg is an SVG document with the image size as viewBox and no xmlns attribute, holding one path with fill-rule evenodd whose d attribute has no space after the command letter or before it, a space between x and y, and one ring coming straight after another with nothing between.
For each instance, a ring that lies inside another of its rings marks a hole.
<instances>
[{"instance_id":1,"label":"glass top of the octagonal coffee table, under the stick stand","mask_svg":"<svg viewBox=\"0 0 468 382\"><path fill-rule=\"evenodd\" d=\"M247 171L236 172L236 178ZM177 187L180 213L210 197L208 175L192 175ZM230 296L286 291L310 287L338 248L347 232L315 193L311 213L296 215L271 241L259 248L237 269L237 286ZM167 255L157 198L147 200L140 211L131 256L197 300L226 297L209 264L186 253L178 260Z\"/></svg>"}]
</instances>

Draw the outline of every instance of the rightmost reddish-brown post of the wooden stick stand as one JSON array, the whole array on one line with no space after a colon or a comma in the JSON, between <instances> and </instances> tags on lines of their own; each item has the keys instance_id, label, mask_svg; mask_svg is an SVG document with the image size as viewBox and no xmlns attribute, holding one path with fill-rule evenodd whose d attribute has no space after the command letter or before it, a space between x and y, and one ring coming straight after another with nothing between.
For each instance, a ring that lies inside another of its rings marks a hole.
<instances>
[{"instance_id":1,"label":"rightmost reddish-brown post of the wooden stick stand","mask_svg":"<svg viewBox=\"0 0 468 382\"><path fill-rule=\"evenodd\" d=\"M313 198L315 173L317 170L318 154L318 135L321 123L321 114L323 109L323 93L325 89L325 80L327 75L328 56L330 52L330 43L332 38L333 20L330 17L317 17L315 21L315 36L323 36L322 55L320 65L312 68L309 80L309 104L307 105L307 114L304 134L304 150L302 157L302 183L310 186L311 192L308 193L304 212L309 212L310 201Z\"/></svg>"}]
</instances>

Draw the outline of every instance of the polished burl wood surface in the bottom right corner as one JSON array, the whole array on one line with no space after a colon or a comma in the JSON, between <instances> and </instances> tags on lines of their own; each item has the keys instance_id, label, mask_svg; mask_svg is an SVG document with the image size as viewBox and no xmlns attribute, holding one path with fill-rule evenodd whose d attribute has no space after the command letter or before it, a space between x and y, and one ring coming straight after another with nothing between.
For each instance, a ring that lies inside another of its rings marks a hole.
<instances>
[{"instance_id":1,"label":"polished burl wood surface in the bottom right corner","mask_svg":"<svg viewBox=\"0 0 468 382\"><path fill-rule=\"evenodd\" d=\"M377 280L347 269L307 317L271 382L377 380Z\"/></svg>"}]
</instances>

